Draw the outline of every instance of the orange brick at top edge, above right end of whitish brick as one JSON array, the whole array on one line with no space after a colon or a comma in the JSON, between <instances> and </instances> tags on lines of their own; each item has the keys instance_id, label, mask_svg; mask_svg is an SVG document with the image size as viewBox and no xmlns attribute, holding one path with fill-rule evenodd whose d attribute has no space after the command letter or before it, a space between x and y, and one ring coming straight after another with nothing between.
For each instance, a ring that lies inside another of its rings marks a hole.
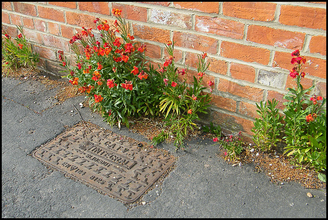
<instances>
[{"instance_id":1,"label":"orange brick at top edge, above right end of whitish brick","mask_svg":"<svg viewBox=\"0 0 328 220\"><path fill-rule=\"evenodd\" d=\"M174 2L177 9L189 9L206 13L219 13L218 2Z\"/></svg>"}]
</instances>

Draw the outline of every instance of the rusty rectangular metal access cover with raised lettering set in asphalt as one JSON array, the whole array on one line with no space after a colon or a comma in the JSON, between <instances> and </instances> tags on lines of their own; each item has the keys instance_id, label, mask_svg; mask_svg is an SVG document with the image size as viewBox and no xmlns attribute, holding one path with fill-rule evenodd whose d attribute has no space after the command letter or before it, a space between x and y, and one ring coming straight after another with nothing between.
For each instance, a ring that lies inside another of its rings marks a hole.
<instances>
[{"instance_id":1,"label":"rusty rectangular metal access cover with raised lettering set in asphalt","mask_svg":"<svg viewBox=\"0 0 328 220\"><path fill-rule=\"evenodd\" d=\"M35 150L33 157L125 203L136 201L174 162L115 134L90 131L75 127Z\"/></svg>"}]
</instances>

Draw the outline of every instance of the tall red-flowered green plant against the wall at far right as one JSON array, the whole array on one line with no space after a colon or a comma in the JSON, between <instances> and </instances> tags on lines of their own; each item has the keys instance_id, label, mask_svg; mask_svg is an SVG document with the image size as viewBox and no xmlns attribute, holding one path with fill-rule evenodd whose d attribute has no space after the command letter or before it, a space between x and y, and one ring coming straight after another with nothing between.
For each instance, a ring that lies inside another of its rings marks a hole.
<instances>
[{"instance_id":1,"label":"tall red-flowered green plant against the wall at far right","mask_svg":"<svg viewBox=\"0 0 328 220\"><path fill-rule=\"evenodd\" d=\"M326 99L321 96L310 96L314 85L304 90L300 81L305 76L301 72L306 59L300 56L299 50L292 53L291 63L295 67L290 76L295 78L297 88L289 88L283 104L285 114L285 147L287 156L294 156L295 163L314 167L317 171L326 169L326 110L323 107ZM296 56L296 57L294 57ZM322 100L322 103L319 102ZM322 177L323 174L321 174Z\"/></svg>"}]
</instances>

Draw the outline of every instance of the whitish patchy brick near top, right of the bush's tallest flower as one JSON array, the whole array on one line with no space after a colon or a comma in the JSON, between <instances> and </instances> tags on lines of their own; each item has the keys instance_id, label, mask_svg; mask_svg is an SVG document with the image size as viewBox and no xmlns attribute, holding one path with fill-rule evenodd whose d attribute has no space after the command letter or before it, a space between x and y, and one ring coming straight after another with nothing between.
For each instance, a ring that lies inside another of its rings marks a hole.
<instances>
[{"instance_id":1,"label":"whitish patchy brick near top, right of the bush's tallest flower","mask_svg":"<svg viewBox=\"0 0 328 220\"><path fill-rule=\"evenodd\" d=\"M175 13L171 11L163 11L159 9L150 10L150 22L162 25L173 25L180 28L191 29L191 15Z\"/></svg>"}]
</instances>

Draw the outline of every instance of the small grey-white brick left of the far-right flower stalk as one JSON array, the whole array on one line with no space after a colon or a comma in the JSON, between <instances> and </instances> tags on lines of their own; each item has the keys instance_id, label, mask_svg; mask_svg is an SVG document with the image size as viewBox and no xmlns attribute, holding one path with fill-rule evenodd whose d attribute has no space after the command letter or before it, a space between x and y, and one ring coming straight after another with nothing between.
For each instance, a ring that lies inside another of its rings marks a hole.
<instances>
[{"instance_id":1,"label":"small grey-white brick left of the far-right flower stalk","mask_svg":"<svg viewBox=\"0 0 328 220\"><path fill-rule=\"evenodd\" d=\"M284 77L285 74L283 73L260 70L257 81L259 84L269 85L281 89L284 86Z\"/></svg>"}]
</instances>

